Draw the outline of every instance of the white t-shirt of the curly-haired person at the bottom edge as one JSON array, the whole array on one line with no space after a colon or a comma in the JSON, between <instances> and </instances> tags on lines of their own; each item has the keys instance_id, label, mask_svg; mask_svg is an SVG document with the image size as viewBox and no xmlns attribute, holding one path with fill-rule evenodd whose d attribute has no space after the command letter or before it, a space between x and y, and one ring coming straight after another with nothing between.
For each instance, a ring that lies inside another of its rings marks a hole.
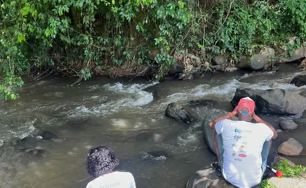
<instances>
[{"instance_id":1,"label":"white t-shirt of the curly-haired person at the bottom edge","mask_svg":"<svg viewBox=\"0 0 306 188\"><path fill-rule=\"evenodd\" d=\"M130 172L115 171L95 178L86 188L136 188L136 185Z\"/></svg>"}]
</instances>

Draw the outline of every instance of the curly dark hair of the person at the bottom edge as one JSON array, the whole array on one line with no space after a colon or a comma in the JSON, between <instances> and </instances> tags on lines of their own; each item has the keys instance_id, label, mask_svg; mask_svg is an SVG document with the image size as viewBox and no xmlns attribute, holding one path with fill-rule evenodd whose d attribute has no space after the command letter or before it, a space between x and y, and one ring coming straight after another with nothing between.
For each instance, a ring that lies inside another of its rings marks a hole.
<instances>
[{"instance_id":1,"label":"curly dark hair of the person at the bottom edge","mask_svg":"<svg viewBox=\"0 0 306 188\"><path fill-rule=\"evenodd\" d=\"M87 172L99 177L119 165L115 152L107 146L99 146L89 150L86 161Z\"/></svg>"}]
</instances>

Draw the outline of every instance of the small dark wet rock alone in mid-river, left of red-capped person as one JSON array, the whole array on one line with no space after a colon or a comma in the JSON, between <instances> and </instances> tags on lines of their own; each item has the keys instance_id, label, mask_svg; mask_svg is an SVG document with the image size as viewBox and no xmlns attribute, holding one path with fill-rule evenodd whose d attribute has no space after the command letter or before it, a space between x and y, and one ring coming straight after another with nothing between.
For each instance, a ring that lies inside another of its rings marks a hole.
<instances>
[{"instance_id":1,"label":"small dark wet rock alone in mid-river, left of red-capped person","mask_svg":"<svg viewBox=\"0 0 306 188\"><path fill-rule=\"evenodd\" d=\"M195 121L195 118L190 115L189 112L176 103L170 103L168 105L166 109L166 116L183 121L184 123L192 123Z\"/></svg>"}]
</instances>

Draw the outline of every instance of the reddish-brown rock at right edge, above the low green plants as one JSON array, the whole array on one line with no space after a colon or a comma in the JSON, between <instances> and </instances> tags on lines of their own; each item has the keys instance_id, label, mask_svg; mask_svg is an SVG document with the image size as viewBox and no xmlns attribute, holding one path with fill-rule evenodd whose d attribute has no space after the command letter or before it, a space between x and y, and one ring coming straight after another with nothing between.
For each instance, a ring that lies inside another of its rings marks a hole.
<instances>
[{"instance_id":1,"label":"reddish-brown rock at right edge, above the low green plants","mask_svg":"<svg viewBox=\"0 0 306 188\"><path fill-rule=\"evenodd\" d=\"M281 143L277 152L285 156L306 155L306 150L302 144L293 138L289 138L288 141Z\"/></svg>"}]
</instances>

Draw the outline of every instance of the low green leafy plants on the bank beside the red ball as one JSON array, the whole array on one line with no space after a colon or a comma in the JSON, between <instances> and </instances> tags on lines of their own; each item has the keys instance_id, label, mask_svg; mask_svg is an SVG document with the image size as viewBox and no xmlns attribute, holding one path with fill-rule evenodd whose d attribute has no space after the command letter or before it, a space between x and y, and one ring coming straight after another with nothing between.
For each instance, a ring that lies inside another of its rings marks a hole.
<instances>
[{"instance_id":1,"label":"low green leafy plants on the bank beside the red ball","mask_svg":"<svg viewBox=\"0 0 306 188\"><path fill-rule=\"evenodd\" d=\"M293 168L288 164L287 160L283 160L276 167L277 170L283 173L283 177L298 177L302 172L306 170L306 167L301 165L294 165Z\"/></svg>"}]
</instances>

